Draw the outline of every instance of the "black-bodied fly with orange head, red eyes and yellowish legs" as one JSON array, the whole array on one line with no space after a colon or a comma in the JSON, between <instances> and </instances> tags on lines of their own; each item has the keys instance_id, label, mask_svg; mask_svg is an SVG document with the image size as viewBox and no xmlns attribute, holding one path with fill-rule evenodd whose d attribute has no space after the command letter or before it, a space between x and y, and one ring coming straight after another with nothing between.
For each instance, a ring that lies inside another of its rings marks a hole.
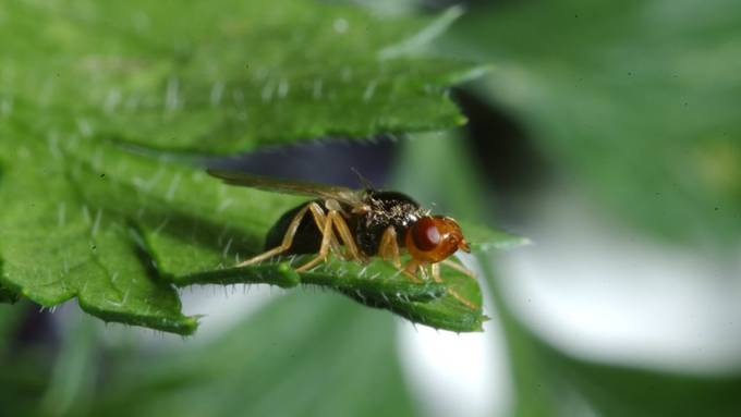
<instances>
[{"instance_id":1,"label":"black-bodied fly with orange head, red eyes and yellowish legs","mask_svg":"<svg viewBox=\"0 0 741 417\"><path fill-rule=\"evenodd\" d=\"M283 213L270 229L265 252L238 267L259 263L278 255L316 254L295 268L307 271L325 261L330 254L361 263L372 257L390 261L413 282L418 273L440 278L440 265L469 277L473 272L449 259L455 252L471 252L458 222L449 217L433 216L411 197L389 191L378 191L367 182L364 188L276 180L233 171L208 170L227 184L313 197ZM402 263L401 256L410 259ZM452 289L448 292L461 303L473 303Z\"/></svg>"}]
</instances>

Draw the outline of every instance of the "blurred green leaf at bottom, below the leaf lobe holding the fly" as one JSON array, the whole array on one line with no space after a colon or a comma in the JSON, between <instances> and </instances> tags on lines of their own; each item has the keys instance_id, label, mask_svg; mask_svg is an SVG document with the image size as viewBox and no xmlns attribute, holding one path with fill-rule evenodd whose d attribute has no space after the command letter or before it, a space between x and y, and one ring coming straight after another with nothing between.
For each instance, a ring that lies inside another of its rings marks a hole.
<instances>
[{"instance_id":1,"label":"blurred green leaf at bottom, below the leaf lobe holding the fly","mask_svg":"<svg viewBox=\"0 0 741 417\"><path fill-rule=\"evenodd\" d=\"M359 309L331 294L290 294L207 343L178 344L154 356L109 351L110 368L99 368L94 359L94 367L74 377L104 377L106 383L66 390L76 403L57 410L76 416L414 415L394 348L391 315ZM70 400L56 398L60 404Z\"/></svg>"}]
</instances>

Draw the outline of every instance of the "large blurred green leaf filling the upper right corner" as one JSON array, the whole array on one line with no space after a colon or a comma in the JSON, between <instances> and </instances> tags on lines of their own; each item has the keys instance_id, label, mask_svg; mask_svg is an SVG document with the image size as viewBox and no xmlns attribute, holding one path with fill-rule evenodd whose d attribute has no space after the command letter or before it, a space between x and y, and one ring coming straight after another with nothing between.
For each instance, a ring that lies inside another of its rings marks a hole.
<instances>
[{"instance_id":1,"label":"large blurred green leaf filling the upper right corner","mask_svg":"<svg viewBox=\"0 0 741 417\"><path fill-rule=\"evenodd\" d=\"M741 236L741 3L512 1L467 13L451 53L604 207L672 240Z\"/></svg>"}]
</instances>

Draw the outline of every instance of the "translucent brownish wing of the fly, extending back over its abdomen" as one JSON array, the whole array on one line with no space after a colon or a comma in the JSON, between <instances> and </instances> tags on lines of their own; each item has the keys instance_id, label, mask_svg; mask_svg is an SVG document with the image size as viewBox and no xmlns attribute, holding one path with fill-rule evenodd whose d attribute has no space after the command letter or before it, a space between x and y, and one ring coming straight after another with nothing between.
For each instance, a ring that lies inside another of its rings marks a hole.
<instances>
[{"instance_id":1,"label":"translucent brownish wing of the fly, extending back over its abdomen","mask_svg":"<svg viewBox=\"0 0 741 417\"><path fill-rule=\"evenodd\" d=\"M302 181L288 181L244 172L209 169L207 172L231 185L265 189L269 192L295 194L308 197L332 198L353 207L363 205L363 191L342 186L316 184Z\"/></svg>"}]
</instances>

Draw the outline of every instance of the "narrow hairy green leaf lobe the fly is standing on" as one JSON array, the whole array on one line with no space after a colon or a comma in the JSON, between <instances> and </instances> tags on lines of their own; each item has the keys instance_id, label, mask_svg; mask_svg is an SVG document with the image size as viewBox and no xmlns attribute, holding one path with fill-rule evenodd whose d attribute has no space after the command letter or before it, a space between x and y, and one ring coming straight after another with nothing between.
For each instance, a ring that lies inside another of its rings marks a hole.
<instances>
[{"instance_id":1,"label":"narrow hairy green leaf lobe the fly is standing on","mask_svg":"<svg viewBox=\"0 0 741 417\"><path fill-rule=\"evenodd\" d=\"M116 145L83 144L70 158L78 161L74 179L98 180L88 182L83 191L86 200L130 219L139 245L153 257L161 277L177 286L315 285L415 322L454 331L481 329L484 317L477 283L449 268L442 269L446 282L422 284L411 282L381 260L360 265L331 258L312 271L297 273L293 267L312 258L305 255L235 268L241 260L260 253L264 237L278 217L305 198L226 185L199 168L131 154ZM171 192L173 184L179 184L177 192ZM481 242L485 245L518 241L495 231L483 235L487 236ZM462 304L449 289L476 307Z\"/></svg>"}]
</instances>

